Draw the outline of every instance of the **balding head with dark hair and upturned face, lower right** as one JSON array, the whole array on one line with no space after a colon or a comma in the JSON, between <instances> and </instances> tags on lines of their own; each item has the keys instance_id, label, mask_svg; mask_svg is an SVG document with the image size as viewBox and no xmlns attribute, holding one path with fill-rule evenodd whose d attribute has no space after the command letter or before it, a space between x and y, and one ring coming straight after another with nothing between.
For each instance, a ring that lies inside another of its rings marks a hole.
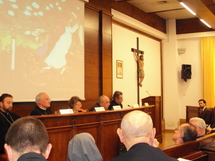
<instances>
[{"instance_id":1,"label":"balding head with dark hair and upturned face, lower right","mask_svg":"<svg viewBox=\"0 0 215 161\"><path fill-rule=\"evenodd\" d=\"M195 140L196 138L196 127L190 123L184 123L175 129L172 140L175 142L175 144L181 144L190 140Z\"/></svg>"}]
</instances>

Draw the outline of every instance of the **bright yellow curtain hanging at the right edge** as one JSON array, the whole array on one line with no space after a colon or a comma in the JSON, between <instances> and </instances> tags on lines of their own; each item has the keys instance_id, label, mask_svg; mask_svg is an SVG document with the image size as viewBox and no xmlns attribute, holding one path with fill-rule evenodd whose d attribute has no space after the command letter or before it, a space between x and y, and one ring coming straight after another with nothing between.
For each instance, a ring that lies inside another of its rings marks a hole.
<instances>
[{"instance_id":1,"label":"bright yellow curtain hanging at the right edge","mask_svg":"<svg viewBox=\"0 0 215 161\"><path fill-rule=\"evenodd\" d=\"M215 106L215 37L201 38L203 98L208 107Z\"/></svg>"}]
</instances>

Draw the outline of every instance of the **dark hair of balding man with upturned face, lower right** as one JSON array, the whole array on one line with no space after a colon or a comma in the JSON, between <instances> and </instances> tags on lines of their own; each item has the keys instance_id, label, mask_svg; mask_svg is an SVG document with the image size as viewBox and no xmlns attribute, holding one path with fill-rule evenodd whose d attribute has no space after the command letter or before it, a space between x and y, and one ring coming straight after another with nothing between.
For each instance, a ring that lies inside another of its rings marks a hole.
<instances>
[{"instance_id":1,"label":"dark hair of balding man with upturned face, lower right","mask_svg":"<svg viewBox=\"0 0 215 161\"><path fill-rule=\"evenodd\" d=\"M190 123L186 123L186 126L181 127L181 131L184 132L184 137L182 138L184 142L197 138L196 127Z\"/></svg>"}]
</instances>

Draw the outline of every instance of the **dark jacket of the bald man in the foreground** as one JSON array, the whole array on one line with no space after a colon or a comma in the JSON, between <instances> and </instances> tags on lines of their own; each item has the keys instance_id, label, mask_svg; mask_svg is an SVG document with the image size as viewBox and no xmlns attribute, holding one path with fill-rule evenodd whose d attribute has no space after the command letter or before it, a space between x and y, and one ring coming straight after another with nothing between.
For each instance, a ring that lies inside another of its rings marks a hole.
<instances>
[{"instance_id":1,"label":"dark jacket of the bald man in the foreground","mask_svg":"<svg viewBox=\"0 0 215 161\"><path fill-rule=\"evenodd\" d=\"M177 161L175 158L167 156L161 149L150 146L146 143L133 145L129 151L110 161Z\"/></svg>"}]
</instances>

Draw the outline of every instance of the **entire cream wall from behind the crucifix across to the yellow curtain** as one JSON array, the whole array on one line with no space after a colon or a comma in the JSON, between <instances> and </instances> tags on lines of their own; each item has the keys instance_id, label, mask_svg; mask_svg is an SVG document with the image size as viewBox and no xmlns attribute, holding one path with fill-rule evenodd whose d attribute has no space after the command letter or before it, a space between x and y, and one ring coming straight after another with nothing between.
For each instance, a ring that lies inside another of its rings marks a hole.
<instances>
[{"instance_id":1,"label":"entire cream wall from behind the crucifix across to the yellow curtain","mask_svg":"<svg viewBox=\"0 0 215 161\"><path fill-rule=\"evenodd\" d=\"M113 19L163 40L163 116L165 128L175 129L179 120L186 118L186 105L197 106L197 101L202 98L200 37L214 36L215 32L176 35L176 22L172 19L167 20L167 34L162 34L116 11L113 11ZM136 37L140 39L140 49L145 52L146 76L141 88L141 98L148 96L146 90L151 95L161 95L160 44L148 37L113 25L113 91L120 90L124 93L125 107L137 102L136 62L130 52L131 48L136 48ZM178 48L185 48L185 53L179 54ZM116 60L123 61L123 79L116 78ZM182 64L192 66L192 78L187 82L181 79Z\"/></svg>"}]
</instances>

